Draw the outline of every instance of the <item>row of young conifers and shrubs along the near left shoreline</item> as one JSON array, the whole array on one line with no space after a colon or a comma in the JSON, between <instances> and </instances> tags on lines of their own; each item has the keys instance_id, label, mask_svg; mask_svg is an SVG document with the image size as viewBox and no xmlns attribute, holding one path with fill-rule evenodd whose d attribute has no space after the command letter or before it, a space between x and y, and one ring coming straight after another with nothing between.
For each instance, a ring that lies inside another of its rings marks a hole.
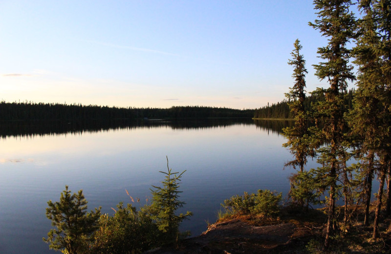
<instances>
[{"instance_id":1,"label":"row of young conifers and shrubs along the near left shoreline","mask_svg":"<svg viewBox=\"0 0 391 254\"><path fill-rule=\"evenodd\" d=\"M87 200L82 190L70 194L68 186L61 193L60 202L48 202L46 216L52 220L52 229L43 240L49 248L67 254L138 254L155 247L178 242L179 224L192 212L176 214L185 204L179 201L179 181L182 173L162 172L166 175L162 187L152 186L152 205L137 212L131 204L117 205L114 215L87 212ZM178 174L178 175L177 175ZM128 193L128 191L127 191ZM128 193L129 195L129 193ZM133 198L130 197L132 202ZM138 201L137 201L138 202Z\"/></svg>"}]
</instances>

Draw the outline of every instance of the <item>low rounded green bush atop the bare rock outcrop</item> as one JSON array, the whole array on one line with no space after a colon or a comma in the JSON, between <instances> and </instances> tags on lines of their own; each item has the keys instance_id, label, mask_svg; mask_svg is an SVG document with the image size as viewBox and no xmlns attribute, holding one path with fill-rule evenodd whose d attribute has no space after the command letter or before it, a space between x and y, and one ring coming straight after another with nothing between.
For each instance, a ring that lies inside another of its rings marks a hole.
<instances>
[{"instance_id":1,"label":"low rounded green bush atop the bare rock outcrop","mask_svg":"<svg viewBox=\"0 0 391 254\"><path fill-rule=\"evenodd\" d=\"M273 216L280 211L279 203L281 200L281 192L258 190L257 194L244 192L242 196L232 196L224 200L224 204L221 206L231 215L261 213L265 216Z\"/></svg>"}]
</instances>

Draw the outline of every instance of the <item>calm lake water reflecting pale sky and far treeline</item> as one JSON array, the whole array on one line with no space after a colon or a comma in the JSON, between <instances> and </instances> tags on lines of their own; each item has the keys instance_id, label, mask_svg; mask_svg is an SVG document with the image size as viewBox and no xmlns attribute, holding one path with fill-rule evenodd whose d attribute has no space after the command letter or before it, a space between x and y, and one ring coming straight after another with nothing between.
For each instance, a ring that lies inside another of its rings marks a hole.
<instances>
[{"instance_id":1,"label":"calm lake water reflecting pale sky and far treeline","mask_svg":"<svg viewBox=\"0 0 391 254\"><path fill-rule=\"evenodd\" d=\"M117 127L4 127L0 146L0 253L49 254L47 201L69 186L83 189L88 210L112 214L130 195L141 205L169 166L182 177L183 211L194 216L181 229L193 235L215 222L220 203L243 191L289 190L283 170L291 159L276 124L248 121L143 121ZM32 130L33 129L33 130ZM313 163L313 162L310 162Z\"/></svg>"}]
</instances>

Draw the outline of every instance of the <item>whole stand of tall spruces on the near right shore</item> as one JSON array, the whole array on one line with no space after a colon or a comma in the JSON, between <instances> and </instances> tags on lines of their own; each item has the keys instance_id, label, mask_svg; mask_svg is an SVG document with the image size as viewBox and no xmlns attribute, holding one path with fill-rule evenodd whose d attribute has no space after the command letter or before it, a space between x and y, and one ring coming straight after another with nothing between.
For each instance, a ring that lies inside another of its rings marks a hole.
<instances>
[{"instance_id":1,"label":"whole stand of tall spruces on the near right shore","mask_svg":"<svg viewBox=\"0 0 391 254\"><path fill-rule=\"evenodd\" d=\"M313 66L315 75L329 86L311 93L322 100L308 103L303 47L296 40L288 61L295 83L285 94L295 124L283 130L287 139L283 146L293 155L285 167L296 169L290 178L291 204L306 209L325 204L323 250L336 246L338 237L342 242L360 232L363 241L381 239L389 251L391 1L358 1L360 19L348 0L315 0L314 5L319 19L309 25L328 43L318 48L322 62ZM356 42L352 48L351 42ZM356 64L357 75L350 61ZM356 82L355 91L347 91L348 81ZM306 169L311 158L318 168ZM376 178L379 189L372 203ZM366 234L369 227L371 233Z\"/></svg>"}]
</instances>

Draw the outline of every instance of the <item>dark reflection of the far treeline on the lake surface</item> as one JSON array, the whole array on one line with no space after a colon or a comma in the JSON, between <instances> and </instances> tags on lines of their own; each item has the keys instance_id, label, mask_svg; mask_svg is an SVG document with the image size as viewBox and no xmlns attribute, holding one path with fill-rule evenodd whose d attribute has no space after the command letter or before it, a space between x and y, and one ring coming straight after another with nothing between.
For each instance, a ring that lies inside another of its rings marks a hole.
<instances>
[{"instance_id":1,"label":"dark reflection of the far treeline on the lake surface","mask_svg":"<svg viewBox=\"0 0 391 254\"><path fill-rule=\"evenodd\" d=\"M272 133L281 133L282 128L292 126L293 121L270 121L252 119L183 119L183 120L110 120L110 121L15 121L0 122L1 138L9 137L34 137L59 134L83 134L83 132L102 132L120 129L135 128L159 128L170 127L172 129L204 129L215 127L229 127L232 125L253 125Z\"/></svg>"}]
</instances>

